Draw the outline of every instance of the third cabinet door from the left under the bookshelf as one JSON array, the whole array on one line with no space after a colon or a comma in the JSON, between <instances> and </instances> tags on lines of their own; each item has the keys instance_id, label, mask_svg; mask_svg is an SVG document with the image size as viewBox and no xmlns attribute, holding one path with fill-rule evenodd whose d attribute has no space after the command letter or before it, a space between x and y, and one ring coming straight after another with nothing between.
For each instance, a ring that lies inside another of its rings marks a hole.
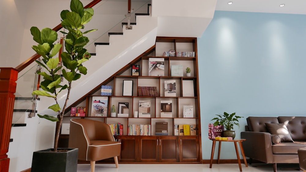
<instances>
[{"instance_id":1,"label":"third cabinet door from the left under the bookshelf","mask_svg":"<svg viewBox=\"0 0 306 172\"><path fill-rule=\"evenodd\" d=\"M178 137L159 137L159 162L178 162Z\"/></svg>"}]
</instances>

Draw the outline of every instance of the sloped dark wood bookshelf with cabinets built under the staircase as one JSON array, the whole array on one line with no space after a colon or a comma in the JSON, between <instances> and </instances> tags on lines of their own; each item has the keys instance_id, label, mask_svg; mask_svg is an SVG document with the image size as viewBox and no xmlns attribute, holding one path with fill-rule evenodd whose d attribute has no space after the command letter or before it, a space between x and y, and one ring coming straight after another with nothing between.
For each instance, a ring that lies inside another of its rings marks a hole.
<instances>
[{"instance_id":1,"label":"sloped dark wood bookshelf with cabinets built under the staircase","mask_svg":"<svg viewBox=\"0 0 306 172\"><path fill-rule=\"evenodd\" d=\"M191 53L194 57L164 57L165 51L169 50L172 54L194 52ZM78 118L123 126L121 135L114 135L122 144L119 162L200 163L197 58L196 38L157 37L154 46L69 108L84 106L86 115ZM191 76L186 76L187 67L191 69ZM101 95L102 86L111 87L103 92L108 96ZM111 116L113 105L115 116ZM66 114L68 117L70 111ZM69 123L69 118L65 121ZM167 125L157 131L161 123ZM185 130L179 130L179 127L185 127ZM173 151L169 152L170 147L168 149L166 145L171 145Z\"/></svg>"}]
</instances>

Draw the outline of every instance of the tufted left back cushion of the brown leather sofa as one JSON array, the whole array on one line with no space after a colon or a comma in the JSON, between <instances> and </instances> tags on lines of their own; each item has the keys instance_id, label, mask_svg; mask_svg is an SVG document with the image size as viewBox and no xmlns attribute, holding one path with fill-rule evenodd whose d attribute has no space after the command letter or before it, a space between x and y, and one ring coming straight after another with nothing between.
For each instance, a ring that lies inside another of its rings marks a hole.
<instances>
[{"instance_id":1,"label":"tufted left back cushion of the brown leather sofa","mask_svg":"<svg viewBox=\"0 0 306 172\"><path fill-rule=\"evenodd\" d=\"M268 132L265 123L279 123L277 117L248 117L249 131Z\"/></svg>"}]
</instances>

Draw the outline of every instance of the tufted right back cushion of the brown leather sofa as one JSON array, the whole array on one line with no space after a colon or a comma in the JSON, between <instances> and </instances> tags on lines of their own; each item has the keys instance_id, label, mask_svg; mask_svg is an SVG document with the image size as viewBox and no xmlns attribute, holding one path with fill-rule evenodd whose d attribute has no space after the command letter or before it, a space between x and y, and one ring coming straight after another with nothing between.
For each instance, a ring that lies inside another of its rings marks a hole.
<instances>
[{"instance_id":1,"label":"tufted right back cushion of the brown leather sofa","mask_svg":"<svg viewBox=\"0 0 306 172\"><path fill-rule=\"evenodd\" d=\"M306 141L306 117L279 116L279 123L285 123L294 141Z\"/></svg>"}]
</instances>

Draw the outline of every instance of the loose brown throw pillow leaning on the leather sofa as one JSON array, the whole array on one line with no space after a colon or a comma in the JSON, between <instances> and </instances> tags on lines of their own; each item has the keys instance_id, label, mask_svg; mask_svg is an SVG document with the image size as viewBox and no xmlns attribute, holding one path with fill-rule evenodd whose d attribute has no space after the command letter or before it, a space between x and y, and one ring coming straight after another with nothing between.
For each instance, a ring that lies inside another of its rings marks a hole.
<instances>
[{"instance_id":1,"label":"loose brown throw pillow leaning on the leather sofa","mask_svg":"<svg viewBox=\"0 0 306 172\"><path fill-rule=\"evenodd\" d=\"M281 142L293 142L289 131L284 123L274 124L265 123L269 133L278 135L281 138Z\"/></svg>"}]
</instances>

